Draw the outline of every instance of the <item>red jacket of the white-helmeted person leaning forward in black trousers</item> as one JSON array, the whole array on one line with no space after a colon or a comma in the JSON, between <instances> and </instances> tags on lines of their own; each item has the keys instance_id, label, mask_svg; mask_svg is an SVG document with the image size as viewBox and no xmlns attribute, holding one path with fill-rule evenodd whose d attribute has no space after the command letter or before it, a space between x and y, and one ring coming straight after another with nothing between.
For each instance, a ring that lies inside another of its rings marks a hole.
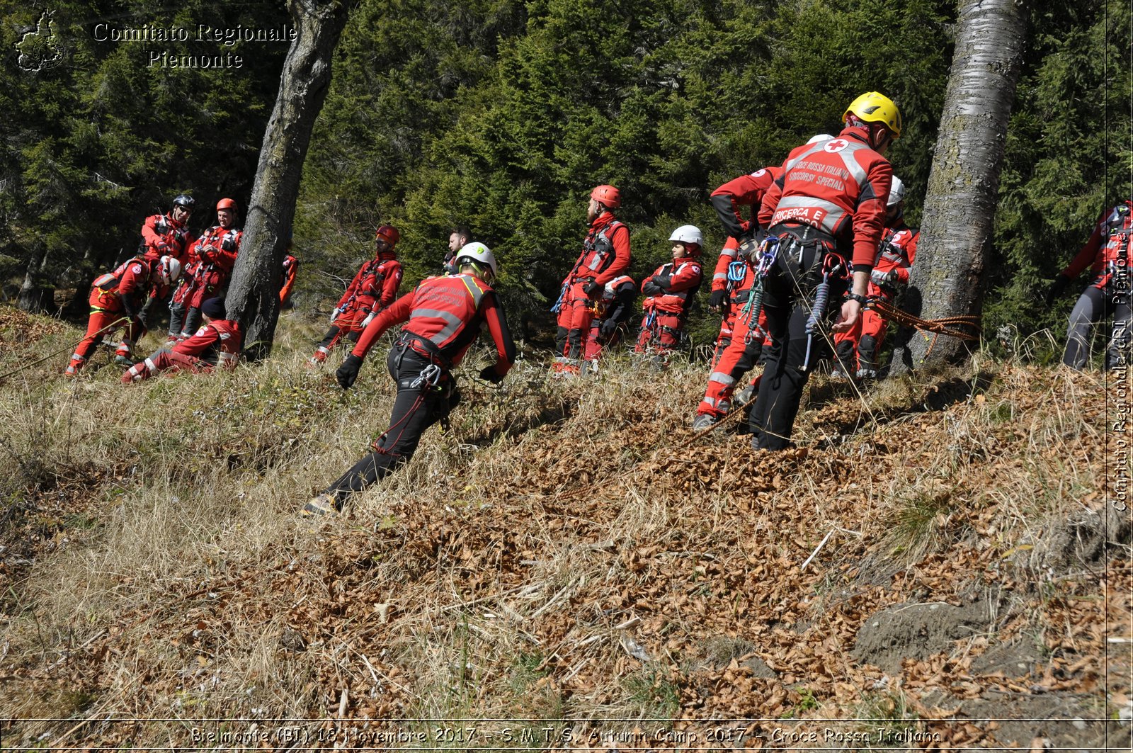
<instances>
[{"instance_id":1,"label":"red jacket of the white-helmeted person leaning forward in black trousers","mask_svg":"<svg viewBox=\"0 0 1133 753\"><path fill-rule=\"evenodd\" d=\"M474 274L425 278L412 293L374 318L351 353L366 357L385 330L401 322L409 322L402 328L403 333L432 344L410 344L411 347L426 357L433 357L435 348L449 362L444 364L446 367L460 363L485 323L496 346L496 373L503 376L516 363L516 345L495 290Z\"/></svg>"}]
</instances>

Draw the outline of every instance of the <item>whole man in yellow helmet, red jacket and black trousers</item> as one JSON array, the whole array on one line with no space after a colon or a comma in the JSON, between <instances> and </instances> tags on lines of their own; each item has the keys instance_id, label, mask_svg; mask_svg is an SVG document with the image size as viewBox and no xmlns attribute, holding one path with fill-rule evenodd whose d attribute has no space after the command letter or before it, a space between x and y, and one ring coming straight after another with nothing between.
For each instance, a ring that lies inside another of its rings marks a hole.
<instances>
[{"instance_id":1,"label":"whole man in yellow helmet, red jacket and black trousers","mask_svg":"<svg viewBox=\"0 0 1133 753\"><path fill-rule=\"evenodd\" d=\"M852 329L866 304L881 240L893 168L884 154L901 135L901 111L877 92L862 94L842 116L837 138L803 144L783 162L759 209L767 238L758 254L767 272L763 310L775 347L751 411L752 445L782 449L791 441L802 388L824 350L824 320L850 286L834 331ZM747 242L755 245L755 242Z\"/></svg>"}]
</instances>

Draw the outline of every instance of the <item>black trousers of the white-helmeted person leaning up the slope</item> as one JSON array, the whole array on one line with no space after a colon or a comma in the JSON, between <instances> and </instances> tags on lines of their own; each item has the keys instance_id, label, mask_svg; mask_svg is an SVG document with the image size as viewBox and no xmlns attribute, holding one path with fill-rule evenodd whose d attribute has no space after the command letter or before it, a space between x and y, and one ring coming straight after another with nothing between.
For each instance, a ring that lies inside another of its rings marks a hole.
<instances>
[{"instance_id":1,"label":"black trousers of the white-helmeted person leaning up the slope","mask_svg":"<svg viewBox=\"0 0 1133 753\"><path fill-rule=\"evenodd\" d=\"M452 378L442 370L436 386L414 386L431 362L416 350L395 346L385 359L390 376L398 383L390 428L374 446L376 450L361 458L326 488L341 505L351 492L361 491L409 462L417 451L425 430L449 415L458 397Z\"/></svg>"}]
</instances>

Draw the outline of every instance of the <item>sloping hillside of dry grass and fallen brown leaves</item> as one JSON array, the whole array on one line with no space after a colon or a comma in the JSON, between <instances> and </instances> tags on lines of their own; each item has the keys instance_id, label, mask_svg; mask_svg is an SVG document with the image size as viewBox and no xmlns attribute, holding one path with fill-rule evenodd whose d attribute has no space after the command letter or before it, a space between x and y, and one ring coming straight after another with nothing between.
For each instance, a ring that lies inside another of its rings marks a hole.
<instances>
[{"instance_id":1,"label":"sloping hillside of dry grass and fallen brown leaves","mask_svg":"<svg viewBox=\"0 0 1133 753\"><path fill-rule=\"evenodd\" d=\"M0 373L59 350L0 401L5 744L1128 746L1124 386L816 378L799 448L753 454L688 430L702 364L528 353L312 525L392 400L380 357L348 394L304 367L320 327L125 388L0 310Z\"/></svg>"}]
</instances>

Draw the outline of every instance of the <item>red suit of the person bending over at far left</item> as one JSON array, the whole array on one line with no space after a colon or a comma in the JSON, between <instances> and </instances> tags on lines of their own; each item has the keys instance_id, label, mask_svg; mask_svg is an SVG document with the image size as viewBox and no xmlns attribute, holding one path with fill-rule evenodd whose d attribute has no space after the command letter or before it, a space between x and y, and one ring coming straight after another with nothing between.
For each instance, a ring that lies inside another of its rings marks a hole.
<instances>
[{"instance_id":1,"label":"red suit of the person bending over at far left","mask_svg":"<svg viewBox=\"0 0 1133 753\"><path fill-rule=\"evenodd\" d=\"M79 341L71 355L68 374L76 374L99 347L100 338L119 327L126 335L118 346L117 355L129 356L134 342L143 329L138 314L150 295L152 279L157 277L155 262L137 256L125 262L113 272L102 274L91 286L91 318L86 324L86 337Z\"/></svg>"}]
</instances>

